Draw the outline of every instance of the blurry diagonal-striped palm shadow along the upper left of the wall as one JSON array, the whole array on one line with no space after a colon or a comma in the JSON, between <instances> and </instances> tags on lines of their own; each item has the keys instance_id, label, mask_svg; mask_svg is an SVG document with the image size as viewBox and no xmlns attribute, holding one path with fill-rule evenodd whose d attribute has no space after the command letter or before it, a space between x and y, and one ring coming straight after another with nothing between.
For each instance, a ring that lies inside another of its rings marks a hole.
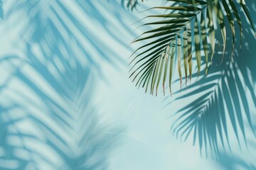
<instances>
[{"instance_id":1,"label":"blurry diagonal-striped palm shadow along the upper left of the wall","mask_svg":"<svg viewBox=\"0 0 256 170\"><path fill-rule=\"evenodd\" d=\"M100 70L97 62L109 62L113 67L118 67L120 63L124 64L119 54L108 47L107 37L100 36L102 32L109 34L119 44L127 46L121 37L113 34L111 29L114 28L114 24L113 28L107 26L112 21L105 16L109 11L102 10L106 4L108 3L99 6L97 2L92 1L25 1L23 4L13 4L14 7L6 12L6 16L11 16L17 11L25 11L29 26L21 30L21 38L40 42L41 38L48 36L48 40L52 41L54 39L50 39L50 36L54 35L59 41L66 42L65 46L72 45L72 42L77 47L75 50L82 53L80 57L85 58L91 67ZM110 4L109 6L114 8ZM53 42L51 43L50 45L53 45Z\"/></svg>"}]
</instances>

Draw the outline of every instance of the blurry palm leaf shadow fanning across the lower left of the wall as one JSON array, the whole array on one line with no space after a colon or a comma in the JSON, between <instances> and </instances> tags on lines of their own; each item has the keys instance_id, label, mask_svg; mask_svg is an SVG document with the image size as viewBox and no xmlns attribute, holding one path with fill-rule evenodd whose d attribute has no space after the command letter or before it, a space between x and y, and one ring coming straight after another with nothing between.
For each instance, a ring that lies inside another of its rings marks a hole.
<instances>
[{"instance_id":1,"label":"blurry palm leaf shadow fanning across the lower left of the wall","mask_svg":"<svg viewBox=\"0 0 256 170\"><path fill-rule=\"evenodd\" d=\"M31 62L30 65L37 69L38 73L41 73L41 68L38 67L37 62ZM56 81L55 85L53 85L53 89L59 96L57 100L53 100L51 96L42 90L42 86L38 86L31 81L28 75L23 74L21 70L16 72L14 77L25 83L28 89L40 98L41 103L38 106L35 98L26 96L22 91L17 90L16 96L23 98L23 101L29 103L29 105L33 105L33 108L43 116L33 113L29 109L30 106L18 104L21 101L15 102L14 99L9 108L1 108L1 115L5 115L8 118L4 125L1 125L2 128L6 127L3 137L5 140L2 144L6 149L3 155L4 162L18 160L17 169L26 169L32 165L35 169L43 168L44 166L36 163L35 159L33 159L33 157L36 157L39 162L46 162L50 169L100 169L107 167L107 153L116 145L117 136L107 135L102 131L102 129L109 129L109 131L113 129L102 127L98 123L95 108L90 102L94 86L93 81L89 70L85 69L83 73L83 79L80 79L79 83L71 80L74 86L70 89L65 89L65 91L62 91L61 88L63 87L63 81L67 81L68 76L63 74L65 79ZM43 72L41 76L48 83L54 84L52 79L49 79L52 76L50 72ZM80 86L75 86L78 84ZM21 115L18 115L18 113L24 114L22 118L19 118ZM49 118L50 120L47 120ZM32 123L36 132L43 133L44 139L33 134L30 130L22 130L20 124L27 122ZM67 132L67 134L63 135L63 132ZM73 142L66 139L67 137ZM10 140L20 143L16 146L12 142L10 143ZM44 148L47 146L48 153L43 153L40 149L31 147L30 141L33 141L38 147ZM24 155L28 155L28 157L19 157L16 154L17 150L23 152ZM55 160L48 159L49 154L55 154ZM63 165L58 167L57 163ZM11 167L9 168L11 169Z\"/></svg>"}]
</instances>

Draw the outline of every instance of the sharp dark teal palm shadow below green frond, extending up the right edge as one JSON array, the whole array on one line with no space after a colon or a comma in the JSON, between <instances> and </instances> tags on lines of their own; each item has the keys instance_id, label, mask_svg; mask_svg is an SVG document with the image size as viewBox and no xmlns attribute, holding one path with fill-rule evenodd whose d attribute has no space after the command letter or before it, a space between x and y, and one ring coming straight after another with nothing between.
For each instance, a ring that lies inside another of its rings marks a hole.
<instances>
[{"instance_id":1,"label":"sharp dark teal palm shadow below green frond, extending up the right edge","mask_svg":"<svg viewBox=\"0 0 256 170\"><path fill-rule=\"evenodd\" d=\"M255 2L248 1L248 6L252 7L252 4L255 5ZM255 16L252 8L250 11ZM246 21L245 18L242 19ZM253 19L255 21L255 17ZM171 117L175 120L171 126L172 132L184 141L191 137L193 145L198 143L201 154L206 157L220 156L221 151L232 152L237 146L242 150L247 147L247 135L255 136L255 123L252 123L251 115L252 109L256 107L256 40L247 29L247 23L243 23L243 28L245 38L242 49L240 50L239 45L236 47L233 62L229 62L228 52L220 63L221 45L217 41L220 52L215 54L215 66L210 67L208 76L203 76L204 72L201 72L200 79L196 80L197 75L193 75L193 81L196 82L178 91L174 101L169 103L170 108L175 103L185 104ZM228 40L227 49L231 51L231 38ZM205 59L202 60L203 67L206 67ZM245 125L250 128L245 129Z\"/></svg>"}]
</instances>

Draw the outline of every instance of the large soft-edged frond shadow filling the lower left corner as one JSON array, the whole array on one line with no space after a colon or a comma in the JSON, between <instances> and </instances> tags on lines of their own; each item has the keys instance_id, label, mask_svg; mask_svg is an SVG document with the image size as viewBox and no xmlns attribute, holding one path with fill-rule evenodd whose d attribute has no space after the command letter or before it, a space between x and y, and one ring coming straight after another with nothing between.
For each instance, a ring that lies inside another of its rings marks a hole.
<instances>
[{"instance_id":1,"label":"large soft-edged frond shadow filling the lower left corner","mask_svg":"<svg viewBox=\"0 0 256 170\"><path fill-rule=\"evenodd\" d=\"M33 54L30 56L36 59ZM99 123L93 103L92 73L87 68L65 67L58 78L40 64L33 60L17 69L12 76L18 88L9 84L6 95L1 95L9 103L1 107L4 153L0 166L107 169L109 152L118 142L117 135L105 131L118 130ZM25 67L30 69L25 71ZM31 79L29 72L41 80ZM68 75L71 73L79 79Z\"/></svg>"}]
</instances>

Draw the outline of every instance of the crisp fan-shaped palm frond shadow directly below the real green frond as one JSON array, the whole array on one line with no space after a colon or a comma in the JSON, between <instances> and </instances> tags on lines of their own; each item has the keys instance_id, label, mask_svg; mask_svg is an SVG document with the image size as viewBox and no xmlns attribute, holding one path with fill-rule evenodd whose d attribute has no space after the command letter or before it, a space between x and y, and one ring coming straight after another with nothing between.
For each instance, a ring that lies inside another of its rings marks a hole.
<instances>
[{"instance_id":1,"label":"crisp fan-shaped palm frond shadow directly below the real green frond","mask_svg":"<svg viewBox=\"0 0 256 170\"><path fill-rule=\"evenodd\" d=\"M249 91L253 103L249 104L250 99L247 100L249 96L245 89L252 86L250 82L244 83L245 79L250 79L248 75L245 73L241 76L237 63L226 64L223 72L209 74L189 86L186 89L189 92L176 98L175 102L186 100L189 103L177 111L178 118L172 125L173 132L184 140L193 133L193 144L198 142L201 151L204 147L206 155L208 149L218 154L220 147L228 147L231 151L230 136L233 139L233 135L239 146L241 136L246 145L245 121L254 132L250 107L256 106L253 91Z\"/></svg>"}]
</instances>

